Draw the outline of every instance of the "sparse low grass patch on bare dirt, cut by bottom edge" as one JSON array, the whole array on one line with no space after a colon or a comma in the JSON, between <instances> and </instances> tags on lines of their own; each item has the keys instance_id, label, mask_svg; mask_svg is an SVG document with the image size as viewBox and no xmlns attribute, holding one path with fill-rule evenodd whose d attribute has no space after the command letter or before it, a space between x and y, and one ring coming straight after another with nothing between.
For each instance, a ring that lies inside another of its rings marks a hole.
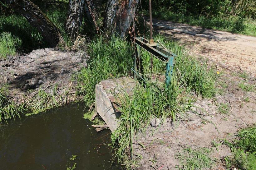
<instances>
[{"instance_id":1,"label":"sparse low grass patch on bare dirt, cut by bottom edge","mask_svg":"<svg viewBox=\"0 0 256 170\"><path fill-rule=\"evenodd\" d=\"M211 168L214 165L214 160L210 157L212 153L208 148L184 148L175 155L176 159L179 159L180 165L176 165L178 169L184 170L200 170Z\"/></svg>"}]
</instances>

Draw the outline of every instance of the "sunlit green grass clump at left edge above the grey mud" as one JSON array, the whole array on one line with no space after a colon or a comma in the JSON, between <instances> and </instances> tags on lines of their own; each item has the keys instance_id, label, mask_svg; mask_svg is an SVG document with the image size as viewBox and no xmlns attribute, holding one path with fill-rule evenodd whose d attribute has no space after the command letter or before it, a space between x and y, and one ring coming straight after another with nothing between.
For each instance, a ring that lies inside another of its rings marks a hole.
<instances>
[{"instance_id":1,"label":"sunlit green grass clump at left edge above the grey mud","mask_svg":"<svg viewBox=\"0 0 256 170\"><path fill-rule=\"evenodd\" d=\"M15 55L16 49L22 50L22 41L8 32L0 34L0 58L6 58L7 54Z\"/></svg>"}]
</instances>

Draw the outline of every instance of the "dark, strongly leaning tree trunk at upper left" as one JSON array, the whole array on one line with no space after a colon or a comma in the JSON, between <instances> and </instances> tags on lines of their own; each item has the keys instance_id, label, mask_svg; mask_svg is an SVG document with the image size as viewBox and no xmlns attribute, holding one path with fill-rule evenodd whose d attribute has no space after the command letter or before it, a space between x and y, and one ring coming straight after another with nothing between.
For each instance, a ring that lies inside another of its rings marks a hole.
<instances>
[{"instance_id":1,"label":"dark, strongly leaning tree trunk at upper left","mask_svg":"<svg viewBox=\"0 0 256 170\"><path fill-rule=\"evenodd\" d=\"M50 47L56 47L59 42L58 29L33 2L29 0L6 0L6 2L36 27Z\"/></svg>"}]
</instances>

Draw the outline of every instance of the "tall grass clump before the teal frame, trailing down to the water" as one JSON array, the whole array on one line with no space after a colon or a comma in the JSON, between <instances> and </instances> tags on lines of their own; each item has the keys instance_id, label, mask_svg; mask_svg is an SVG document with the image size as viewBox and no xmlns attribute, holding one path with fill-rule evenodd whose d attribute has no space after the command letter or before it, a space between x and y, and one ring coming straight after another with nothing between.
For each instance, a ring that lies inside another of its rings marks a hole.
<instances>
[{"instance_id":1,"label":"tall grass clump before the teal frame, trailing down to the water","mask_svg":"<svg viewBox=\"0 0 256 170\"><path fill-rule=\"evenodd\" d=\"M186 103L181 103L178 95L182 93L183 89L175 80L171 80L171 86L160 89L146 83L144 85L137 85L133 90L133 96L124 94L119 103L119 110L122 115L120 117L121 124L119 128L113 133L111 139L117 142L118 148L116 157L119 161L123 159L123 155L127 154L130 159L133 159L133 140L138 131L144 131L144 128L149 125L152 117L171 117L176 121L177 114L185 112L190 108L191 100Z\"/></svg>"}]
</instances>

